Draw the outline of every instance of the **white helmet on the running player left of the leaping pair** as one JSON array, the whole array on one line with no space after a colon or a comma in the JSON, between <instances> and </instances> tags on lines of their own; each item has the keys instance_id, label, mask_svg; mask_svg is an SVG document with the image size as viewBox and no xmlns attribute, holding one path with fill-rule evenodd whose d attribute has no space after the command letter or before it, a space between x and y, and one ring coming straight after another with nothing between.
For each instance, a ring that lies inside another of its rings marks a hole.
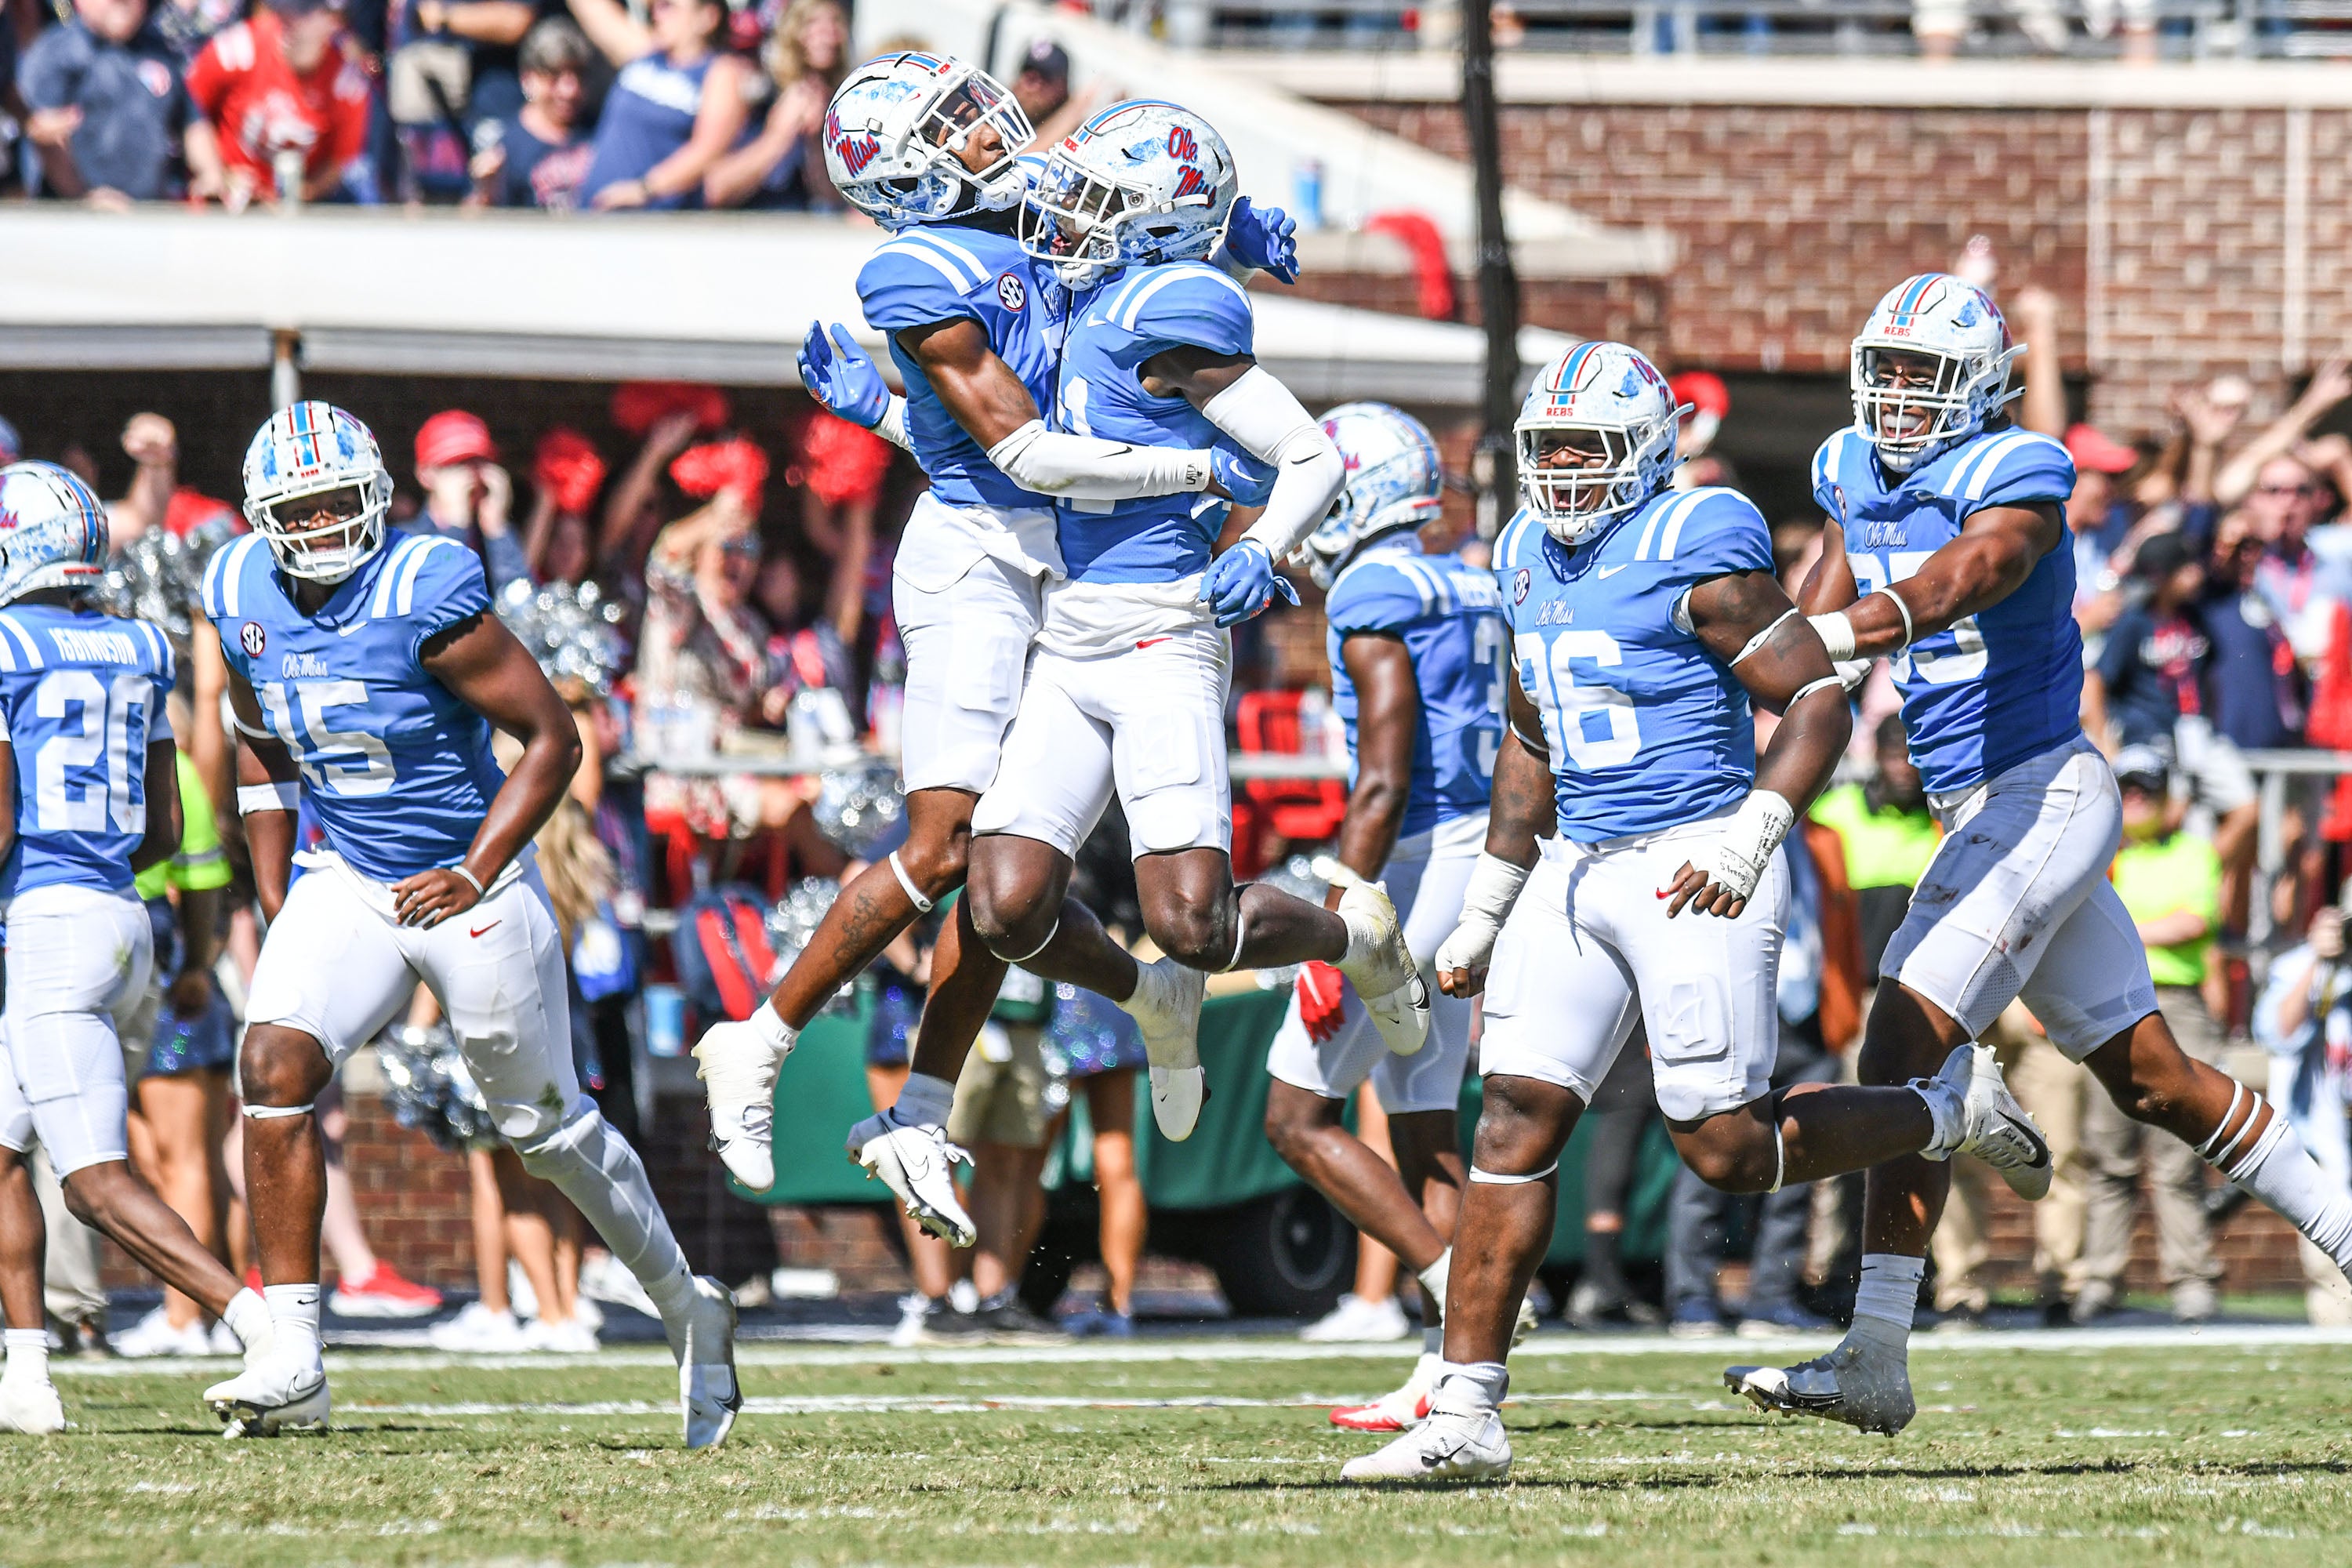
<instances>
[{"instance_id":1,"label":"white helmet on the running player left of the leaping pair","mask_svg":"<svg viewBox=\"0 0 2352 1568\"><path fill-rule=\"evenodd\" d=\"M390 510L376 437L334 404L278 409L245 449L245 520L287 576L341 583L383 548Z\"/></svg>"}]
</instances>

